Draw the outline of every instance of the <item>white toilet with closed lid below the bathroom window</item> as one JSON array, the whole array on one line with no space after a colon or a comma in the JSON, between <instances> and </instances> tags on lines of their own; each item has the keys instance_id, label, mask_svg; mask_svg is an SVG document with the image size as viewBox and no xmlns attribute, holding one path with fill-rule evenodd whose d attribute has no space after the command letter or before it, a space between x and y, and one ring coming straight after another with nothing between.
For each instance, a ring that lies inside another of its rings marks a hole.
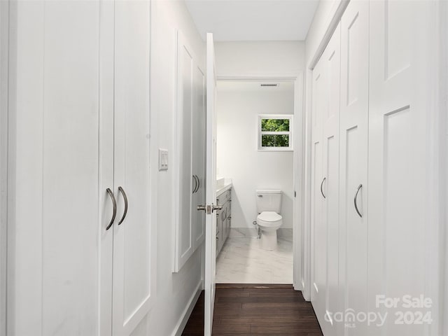
<instances>
[{"instance_id":1,"label":"white toilet with closed lid below the bathroom window","mask_svg":"<svg viewBox=\"0 0 448 336\"><path fill-rule=\"evenodd\" d=\"M257 224L261 228L261 248L275 250L277 247L277 230L283 224L280 215L281 190L255 190L257 204Z\"/></svg>"}]
</instances>

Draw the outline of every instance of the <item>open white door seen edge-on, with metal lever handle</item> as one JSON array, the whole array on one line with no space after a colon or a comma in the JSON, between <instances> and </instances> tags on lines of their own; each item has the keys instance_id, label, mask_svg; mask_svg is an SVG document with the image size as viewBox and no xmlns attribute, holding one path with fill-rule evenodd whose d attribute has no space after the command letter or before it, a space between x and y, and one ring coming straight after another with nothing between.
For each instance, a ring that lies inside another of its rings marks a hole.
<instances>
[{"instance_id":1,"label":"open white door seen edge-on, with metal lever handle","mask_svg":"<svg viewBox=\"0 0 448 336\"><path fill-rule=\"evenodd\" d=\"M216 272L216 71L213 34L207 34L207 171L205 219L205 311L204 336L211 336L215 303Z\"/></svg>"}]
</instances>

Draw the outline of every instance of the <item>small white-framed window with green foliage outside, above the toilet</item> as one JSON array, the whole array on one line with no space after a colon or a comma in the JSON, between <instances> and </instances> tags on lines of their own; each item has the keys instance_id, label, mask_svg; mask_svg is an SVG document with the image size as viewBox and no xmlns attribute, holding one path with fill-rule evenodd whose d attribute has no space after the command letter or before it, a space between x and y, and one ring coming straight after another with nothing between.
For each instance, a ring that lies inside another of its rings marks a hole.
<instances>
[{"instance_id":1,"label":"small white-framed window with green foliage outside, above the toilet","mask_svg":"<svg viewBox=\"0 0 448 336\"><path fill-rule=\"evenodd\" d=\"M258 151L293 151L293 116L258 116Z\"/></svg>"}]
</instances>

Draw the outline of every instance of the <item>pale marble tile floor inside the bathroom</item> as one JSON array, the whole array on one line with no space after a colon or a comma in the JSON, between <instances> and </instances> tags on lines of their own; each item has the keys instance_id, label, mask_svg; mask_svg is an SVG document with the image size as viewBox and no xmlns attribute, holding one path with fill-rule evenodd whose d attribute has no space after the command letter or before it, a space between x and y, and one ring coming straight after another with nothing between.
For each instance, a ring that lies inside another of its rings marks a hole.
<instances>
[{"instance_id":1,"label":"pale marble tile floor inside the bathroom","mask_svg":"<svg viewBox=\"0 0 448 336\"><path fill-rule=\"evenodd\" d=\"M255 230L232 228L216 260L216 283L293 283L292 230L280 230L276 251L265 251Z\"/></svg>"}]
</instances>

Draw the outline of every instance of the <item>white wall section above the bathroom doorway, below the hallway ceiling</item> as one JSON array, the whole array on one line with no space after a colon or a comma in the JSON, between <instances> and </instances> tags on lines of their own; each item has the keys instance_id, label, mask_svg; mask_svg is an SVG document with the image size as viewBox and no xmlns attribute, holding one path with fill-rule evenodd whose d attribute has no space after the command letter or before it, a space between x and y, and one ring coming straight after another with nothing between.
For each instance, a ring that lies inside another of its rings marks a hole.
<instances>
[{"instance_id":1,"label":"white wall section above the bathroom doorway, below the hallway ceiling","mask_svg":"<svg viewBox=\"0 0 448 336\"><path fill-rule=\"evenodd\" d=\"M288 76L304 69L304 42L217 42L219 76Z\"/></svg>"}]
</instances>

